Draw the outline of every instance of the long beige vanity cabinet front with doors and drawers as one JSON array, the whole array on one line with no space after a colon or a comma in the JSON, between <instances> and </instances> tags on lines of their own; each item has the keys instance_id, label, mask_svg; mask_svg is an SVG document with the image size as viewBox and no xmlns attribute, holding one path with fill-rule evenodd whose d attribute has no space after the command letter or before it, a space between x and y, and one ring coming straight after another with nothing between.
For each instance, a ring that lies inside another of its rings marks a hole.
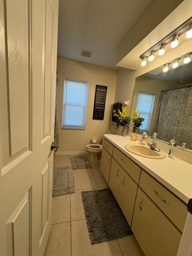
<instances>
[{"instance_id":1,"label":"long beige vanity cabinet front with doors and drawers","mask_svg":"<svg viewBox=\"0 0 192 256\"><path fill-rule=\"evenodd\" d=\"M109 143L105 141L101 171L144 254L176 256L186 204Z\"/></svg>"}]
</instances>

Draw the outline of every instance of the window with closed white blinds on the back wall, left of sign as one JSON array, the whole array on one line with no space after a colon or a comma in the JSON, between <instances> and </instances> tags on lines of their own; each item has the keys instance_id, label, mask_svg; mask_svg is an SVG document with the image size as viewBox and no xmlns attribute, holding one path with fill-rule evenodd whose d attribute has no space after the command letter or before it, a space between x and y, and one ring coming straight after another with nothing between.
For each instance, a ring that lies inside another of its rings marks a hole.
<instances>
[{"instance_id":1,"label":"window with closed white blinds on the back wall, left of sign","mask_svg":"<svg viewBox=\"0 0 192 256\"><path fill-rule=\"evenodd\" d=\"M64 79L62 128L85 129L88 82Z\"/></svg>"}]
</instances>

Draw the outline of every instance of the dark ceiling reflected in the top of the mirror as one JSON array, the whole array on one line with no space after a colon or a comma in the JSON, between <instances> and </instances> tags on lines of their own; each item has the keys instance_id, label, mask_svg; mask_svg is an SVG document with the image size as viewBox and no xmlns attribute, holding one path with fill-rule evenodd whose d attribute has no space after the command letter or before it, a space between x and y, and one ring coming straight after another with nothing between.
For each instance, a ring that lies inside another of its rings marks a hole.
<instances>
[{"instance_id":1,"label":"dark ceiling reflected in the top of the mirror","mask_svg":"<svg viewBox=\"0 0 192 256\"><path fill-rule=\"evenodd\" d=\"M163 72L161 74L153 75L146 73L143 74L143 76L185 85L188 83L192 83L192 62L168 70L167 72Z\"/></svg>"}]
</instances>

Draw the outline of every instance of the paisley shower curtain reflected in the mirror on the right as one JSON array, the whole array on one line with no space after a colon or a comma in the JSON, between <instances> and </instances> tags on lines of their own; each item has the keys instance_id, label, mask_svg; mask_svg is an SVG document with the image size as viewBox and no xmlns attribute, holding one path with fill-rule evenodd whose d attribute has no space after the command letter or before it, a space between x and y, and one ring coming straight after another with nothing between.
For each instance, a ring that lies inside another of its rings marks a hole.
<instances>
[{"instance_id":1,"label":"paisley shower curtain reflected in the mirror on the right","mask_svg":"<svg viewBox=\"0 0 192 256\"><path fill-rule=\"evenodd\" d=\"M161 91L158 110L152 128L158 139L186 143L192 149L192 87Z\"/></svg>"}]
</instances>

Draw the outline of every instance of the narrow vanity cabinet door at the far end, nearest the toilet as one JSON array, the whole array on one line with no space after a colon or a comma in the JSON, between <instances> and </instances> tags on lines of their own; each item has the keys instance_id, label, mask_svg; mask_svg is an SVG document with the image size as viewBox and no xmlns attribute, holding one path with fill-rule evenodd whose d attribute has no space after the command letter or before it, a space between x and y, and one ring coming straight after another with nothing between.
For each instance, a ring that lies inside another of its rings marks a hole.
<instances>
[{"instance_id":1,"label":"narrow vanity cabinet door at the far end, nearest the toilet","mask_svg":"<svg viewBox=\"0 0 192 256\"><path fill-rule=\"evenodd\" d=\"M101 165L100 169L103 173L104 178L107 181L107 184L109 182L109 174L110 174L110 167L111 167L111 155L107 152L106 149L102 149L102 155L101 155Z\"/></svg>"}]
</instances>

